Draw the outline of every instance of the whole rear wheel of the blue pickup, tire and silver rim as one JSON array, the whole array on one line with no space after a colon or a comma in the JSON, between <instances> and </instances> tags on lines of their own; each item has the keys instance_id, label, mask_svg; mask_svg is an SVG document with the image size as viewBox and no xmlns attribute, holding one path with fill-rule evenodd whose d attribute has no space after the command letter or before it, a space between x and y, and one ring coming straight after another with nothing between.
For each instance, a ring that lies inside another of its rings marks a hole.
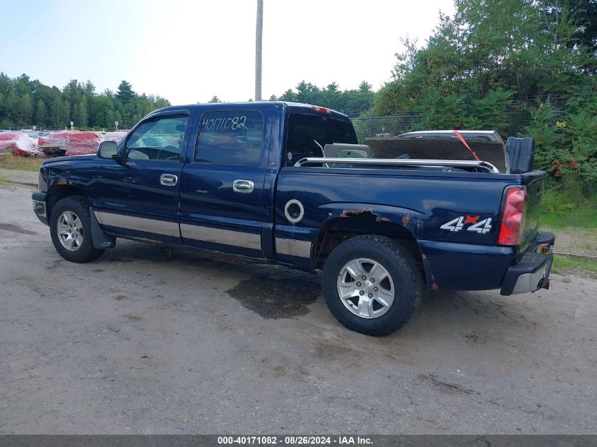
<instances>
[{"instance_id":1,"label":"whole rear wheel of the blue pickup, tire and silver rim","mask_svg":"<svg viewBox=\"0 0 597 447\"><path fill-rule=\"evenodd\" d=\"M338 245L327 258L322 282L333 316L367 335L389 335L404 326L423 290L413 256L392 239L374 235Z\"/></svg>"}]
</instances>

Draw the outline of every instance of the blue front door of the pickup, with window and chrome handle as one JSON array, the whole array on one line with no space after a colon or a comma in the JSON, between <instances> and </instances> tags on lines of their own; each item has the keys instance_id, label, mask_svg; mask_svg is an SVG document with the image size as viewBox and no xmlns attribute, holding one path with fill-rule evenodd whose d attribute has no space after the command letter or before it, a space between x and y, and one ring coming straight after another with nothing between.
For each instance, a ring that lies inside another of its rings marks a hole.
<instances>
[{"instance_id":1,"label":"blue front door of the pickup, with window and chrome handle","mask_svg":"<svg viewBox=\"0 0 597 447\"><path fill-rule=\"evenodd\" d=\"M179 244L179 191L187 111L155 114L136 126L119 154L124 162L102 167L95 215L118 234Z\"/></svg>"}]
</instances>

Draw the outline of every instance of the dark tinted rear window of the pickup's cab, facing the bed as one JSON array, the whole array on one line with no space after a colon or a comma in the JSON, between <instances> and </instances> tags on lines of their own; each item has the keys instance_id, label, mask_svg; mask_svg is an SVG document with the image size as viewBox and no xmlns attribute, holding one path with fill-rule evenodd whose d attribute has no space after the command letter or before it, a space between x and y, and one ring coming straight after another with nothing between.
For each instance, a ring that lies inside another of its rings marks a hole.
<instances>
[{"instance_id":1,"label":"dark tinted rear window of the pickup's cab, facing the bed","mask_svg":"<svg viewBox=\"0 0 597 447\"><path fill-rule=\"evenodd\" d=\"M292 166L301 158L323 157L321 148L332 143L357 144L355 129L350 121L342 121L328 114L290 113L284 164Z\"/></svg>"}]
</instances>

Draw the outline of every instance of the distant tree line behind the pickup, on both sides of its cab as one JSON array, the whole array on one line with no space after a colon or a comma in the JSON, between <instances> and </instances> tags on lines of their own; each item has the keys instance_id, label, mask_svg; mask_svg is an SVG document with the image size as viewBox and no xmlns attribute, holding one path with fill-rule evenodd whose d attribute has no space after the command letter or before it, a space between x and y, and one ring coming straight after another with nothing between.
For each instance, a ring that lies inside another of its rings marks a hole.
<instances>
[{"instance_id":1,"label":"distant tree line behind the pickup, on both sides of its cab","mask_svg":"<svg viewBox=\"0 0 597 447\"><path fill-rule=\"evenodd\" d=\"M372 107L374 94L365 81L353 90L340 90L337 83L318 88L302 81L295 90L272 95L270 100L305 102L358 116ZM210 102L221 100L213 96ZM71 121L76 129L113 129L114 121L127 129L149 112L169 105L163 97L135 93L127 81L119 84L116 93L98 94L91 81L73 79L59 89L32 81L26 74L10 78L0 73L0 129L63 129Z\"/></svg>"}]
</instances>

